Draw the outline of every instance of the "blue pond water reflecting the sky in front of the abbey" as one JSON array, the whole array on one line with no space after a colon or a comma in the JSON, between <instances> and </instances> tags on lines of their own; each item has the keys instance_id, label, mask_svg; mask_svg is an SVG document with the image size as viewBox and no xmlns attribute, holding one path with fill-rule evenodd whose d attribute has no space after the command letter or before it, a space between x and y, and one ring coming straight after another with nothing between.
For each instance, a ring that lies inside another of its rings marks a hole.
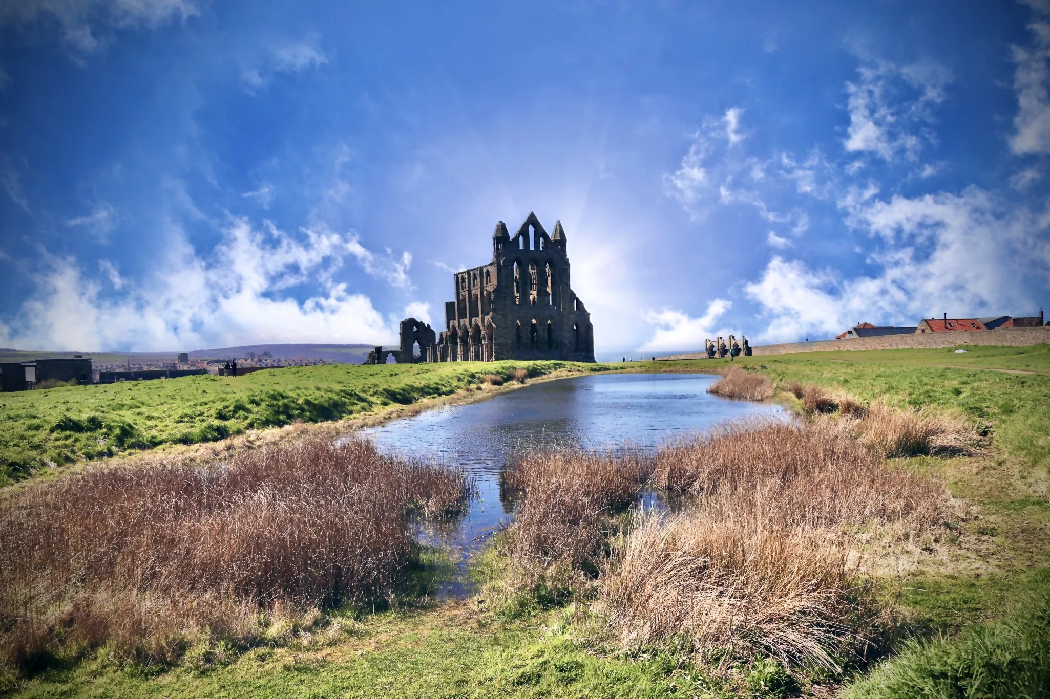
<instances>
[{"instance_id":1,"label":"blue pond water reflecting the sky in front of the abbey","mask_svg":"<svg viewBox=\"0 0 1050 699\"><path fill-rule=\"evenodd\" d=\"M382 450L456 464L475 478L479 497L456 525L430 532L462 553L477 549L508 520L500 471L522 444L602 448L624 442L652 446L676 435L780 407L707 393L704 374L600 374L548 381L490 400L421 412L362 430ZM509 508L509 506L507 506ZM445 594L463 592L452 584Z\"/></svg>"}]
</instances>

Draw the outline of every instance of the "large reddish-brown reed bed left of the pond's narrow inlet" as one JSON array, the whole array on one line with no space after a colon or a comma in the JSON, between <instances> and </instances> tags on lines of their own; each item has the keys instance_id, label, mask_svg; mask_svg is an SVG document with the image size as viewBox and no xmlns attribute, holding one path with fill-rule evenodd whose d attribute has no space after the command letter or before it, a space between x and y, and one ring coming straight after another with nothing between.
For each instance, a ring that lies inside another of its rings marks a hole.
<instances>
[{"instance_id":1,"label":"large reddish-brown reed bed left of the pond's narrow inlet","mask_svg":"<svg viewBox=\"0 0 1050 699\"><path fill-rule=\"evenodd\" d=\"M92 468L0 501L0 653L60 643L171 660L278 617L388 593L414 551L406 509L461 507L455 470L363 440L245 451L207 468Z\"/></svg>"}]
</instances>

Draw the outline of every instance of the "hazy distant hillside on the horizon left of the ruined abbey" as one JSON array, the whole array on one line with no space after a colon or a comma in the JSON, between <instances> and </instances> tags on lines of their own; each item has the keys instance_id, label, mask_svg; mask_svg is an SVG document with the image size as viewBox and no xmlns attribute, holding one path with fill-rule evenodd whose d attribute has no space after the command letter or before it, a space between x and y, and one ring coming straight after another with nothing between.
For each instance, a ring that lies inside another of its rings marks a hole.
<instances>
[{"instance_id":1,"label":"hazy distant hillside on the horizon left of the ruined abbey","mask_svg":"<svg viewBox=\"0 0 1050 699\"><path fill-rule=\"evenodd\" d=\"M190 351L190 359L244 358L249 352L261 355L270 352L275 359L326 359L339 364L360 364L364 361L371 344L248 344L239 347L218 347L215 350ZM139 362L173 362L177 350L169 352L54 352L49 350L4 350L0 348L0 361L28 361L30 359L56 359L83 355L96 362L119 362L131 359Z\"/></svg>"}]
</instances>

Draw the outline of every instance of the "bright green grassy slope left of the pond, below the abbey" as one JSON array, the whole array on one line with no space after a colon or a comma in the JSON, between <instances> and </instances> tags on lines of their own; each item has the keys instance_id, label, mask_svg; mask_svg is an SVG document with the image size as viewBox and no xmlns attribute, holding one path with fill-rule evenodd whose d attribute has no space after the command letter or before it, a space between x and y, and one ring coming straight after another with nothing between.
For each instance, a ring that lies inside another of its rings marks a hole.
<instances>
[{"instance_id":1,"label":"bright green grassy slope left of the pond, below the abbey","mask_svg":"<svg viewBox=\"0 0 1050 699\"><path fill-rule=\"evenodd\" d=\"M213 442L293 422L326 422L448 396L485 374L594 372L572 362L329 364L0 394L0 486L42 466L165 444Z\"/></svg>"}]
</instances>

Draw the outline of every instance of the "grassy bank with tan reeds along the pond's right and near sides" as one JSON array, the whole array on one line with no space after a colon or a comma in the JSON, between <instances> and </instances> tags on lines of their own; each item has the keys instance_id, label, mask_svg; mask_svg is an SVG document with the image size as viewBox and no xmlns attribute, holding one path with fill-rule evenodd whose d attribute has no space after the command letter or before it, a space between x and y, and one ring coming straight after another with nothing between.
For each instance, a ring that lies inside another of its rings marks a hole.
<instances>
[{"instance_id":1,"label":"grassy bank with tan reeds along the pond's right and near sides","mask_svg":"<svg viewBox=\"0 0 1050 699\"><path fill-rule=\"evenodd\" d=\"M712 372L726 364L626 368ZM773 435L679 445L680 453L651 462L574 462L565 453L550 470L523 463L510 478L526 493L524 507L533 499L533 510L522 510L520 531L498 537L507 553L494 560L489 552L484 563L489 580L505 581L509 557L528 562L510 581L530 595L500 599L494 586L463 602L332 617L334 632L203 643L164 666L124 661L103 644L8 687L26 696L351 697L790 696L820 687L896 699L921 691L974 696L974 687L1005 697L1021 686L1009 678L1044 677L1046 348L812 353L733 365L774 380L776 400L799 409L803 401L783 390L796 381L831 396L852 394L858 415L884 404L961 421L973 430L967 435L982 438L983 451L885 461L880 453L899 451L892 440L864 441L866 428L857 427L854 442L842 441L844 432ZM479 365L477 380L491 367ZM1036 374L990 370L1002 368ZM876 419L881 415L877 409ZM769 468L766 450L789 444L797 446L791 470ZM717 468L730 462L744 467ZM569 487L559 488L551 474ZM953 499L941 500L925 476ZM707 496L705 516L631 522L623 507L653 478ZM896 504L880 509L886 492ZM575 538L580 528L584 536ZM867 547L860 569L849 555L857 542ZM610 555L620 556L618 568L604 568ZM697 559L709 563L693 565ZM605 588L594 584L603 570L612 582ZM747 611L746 623L727 626L727 602ZM788 648L775 637L785 631L801 645L770 661ZM874 655L888 654L881 663L862 661L864 644L850 647L861 638ZM806 658L806 649L814 648L844 674L807 668L815 657ZM801 686L785 666L801 669ZM998 683L982 685L982 678Z\"/></svg>"}]
</instances>

